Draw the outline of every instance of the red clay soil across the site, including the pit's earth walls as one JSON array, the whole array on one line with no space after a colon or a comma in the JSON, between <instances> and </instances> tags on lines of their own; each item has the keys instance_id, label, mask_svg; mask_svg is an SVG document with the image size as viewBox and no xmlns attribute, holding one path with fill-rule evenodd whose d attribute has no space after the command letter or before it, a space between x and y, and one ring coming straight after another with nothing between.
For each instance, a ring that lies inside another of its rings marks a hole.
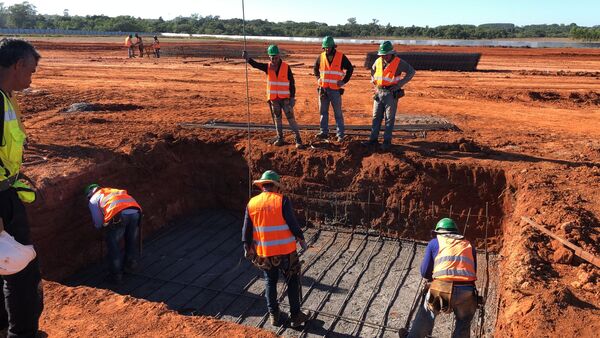
<instances>
[{"instance_id":1,"label":"red clay soil across the site, including the pit's earth walls","mask_svg":"<svg viewBox=\"0 0 600 338\"><path fill-rule=\"evenodd\" d=\"M423 202L458 203L471 194L460 182L483 179L472 193L496 195L499 201L492 210L497 224L491 243L501 255L495 335L592 337L599 332L600 270L525 226L520 217L532 217L600 255L600 50L401 47L480 52L480 71L418 72L406 87L399 114L445 118L461 131L397 138L395 151L381 153L362 148L359 137L298 151L291 145L275 148L268 142L272 133L259 132L249 150L244 132L182 129L178 123L246 122L244 63L207 57L127 59L120 43L35 41L43 59L32 89L19 101L30 143L25 172L43 196L29 213L45 278L60 281L99 256L97 234L81 200L82 187L93 181L125 184L140 196L144 231L150 233L200 207L241 212L248 165L255 176L269 168L282 172L296 194L306 187L365 193L370 186L388 205L409 200L404 185L419 191L415 198ZM179 44L162 43L165 50ZM232 42L194 45L241 49ZM318 124L312 64L319 46L280 47L296 78L296 118L300 124ZM362 63L375 48L339 47L357 66L343 97L348 125L370 124L372 95ZM270 123L264 74L254 69L248 74L252 122ZM78 102L102 109L64 112ZM313 136L303 133L307 141ZM425 189L438 179L454 182L458 195ZM487 183L502 189L482 188ZM465 200L461 209L469 203ZM404 235L426 239L426 232ZM41 329L50 336L257 335L254 329L179 316L162 304L105 290L46 282L45 291Z\"/></svg>"}]
</instances>

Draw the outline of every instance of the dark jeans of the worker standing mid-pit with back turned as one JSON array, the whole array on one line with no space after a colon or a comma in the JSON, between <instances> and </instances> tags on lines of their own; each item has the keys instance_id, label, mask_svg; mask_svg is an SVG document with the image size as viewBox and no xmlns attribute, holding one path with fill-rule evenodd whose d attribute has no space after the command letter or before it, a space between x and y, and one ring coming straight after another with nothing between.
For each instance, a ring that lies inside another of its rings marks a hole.
<instances>
[{"instance_id":1,"label":"dark jeans of the worker standing mid-pit with back turned","mask_svg":"<svg viewBox=\"0 0 600 338\"><path fill-rule=\"evenodd\" d=\"M290 261L287 256L283 256L281 264L278 267L272 267L269 270L264 270L265 278L265 297L267 298L267 307L269 313L279 312L279 304L277 302L277 280L279 279L279 270L287 270ZM290 316L294 317L300 312L300 279L298 275L293 275L286 279L288 287L288 301L290 302Z\"/></svg>"}]
</instances>

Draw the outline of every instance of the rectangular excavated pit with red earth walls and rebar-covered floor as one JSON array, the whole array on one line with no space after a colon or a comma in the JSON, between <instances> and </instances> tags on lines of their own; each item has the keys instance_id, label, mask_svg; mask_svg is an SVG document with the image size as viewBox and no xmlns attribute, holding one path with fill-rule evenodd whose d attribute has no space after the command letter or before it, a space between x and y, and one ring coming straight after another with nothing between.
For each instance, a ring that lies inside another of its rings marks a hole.
<instances>
[{"instance_id":1,"label":"rectangular excavated pit with red earth walls and rebar-covered floor","mask_svg":"<svg viewBox=\"0 0 600 338\"><path fill-rule=\"evenodd\" d=\"M397 336L416 311L424 241L439 218L450 216L480 249L478 288L487 290L487 301L485 320L481 324L478 313L472 332L476 336L482 326L492 333L499 276L494 253L512 208L504 172L371 153L354 142L345 151L339 157L285 149L250 154L253 173L273 168L284 175L285 193L310 244L302 255L302 306L316 320L305 332L269 326L260 273L242 258L248 162L243 147L231 143L166 137L98 166L104 168L96 169L99 177L129 177L115 186L127 188L145 208L148 239L141 267L123 285L112 286L104 264L96 263L67 284L111 289L182 314L215 316L285 336ZM150 173L153 182L169 182L168 191L145 183ZM108 179L100 183L109 184ZM94 236L81 229L69 236L86 235ZM85 258L72 261L85 265L99 258L98 247L87 248ZM282 304L287 310L285 297ZM451 328L450 316L441 316L434 335L447 336Z\"/></svg>"}]
</instances>

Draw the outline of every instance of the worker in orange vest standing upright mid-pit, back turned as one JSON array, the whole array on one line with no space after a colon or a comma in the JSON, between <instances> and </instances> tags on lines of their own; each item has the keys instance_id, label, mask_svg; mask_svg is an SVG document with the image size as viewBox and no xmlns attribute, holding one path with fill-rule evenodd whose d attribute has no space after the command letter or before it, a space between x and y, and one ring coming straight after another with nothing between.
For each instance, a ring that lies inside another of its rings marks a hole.
<instances>
[{"instance_id":1,"label":"worker in orange vest standing upright mid-pit, back turned","mask_svg":"<svg viewBox=\"0 0 600 338\"><path fill-rule=\"evenodd\" d=\"M300 311L301 266L296 253L296 243L304 250L307 245L294 215L292 202L280 192L279 175L273 170L267 170L254 184L262 192L252 197L246 207L242 229L244 256L264 273L265 297L273 326L281 324L277 280L279 271L283 272L288 287L290 325L296 328L309 319L308 315Z\"/></svg>"}]
</instances>

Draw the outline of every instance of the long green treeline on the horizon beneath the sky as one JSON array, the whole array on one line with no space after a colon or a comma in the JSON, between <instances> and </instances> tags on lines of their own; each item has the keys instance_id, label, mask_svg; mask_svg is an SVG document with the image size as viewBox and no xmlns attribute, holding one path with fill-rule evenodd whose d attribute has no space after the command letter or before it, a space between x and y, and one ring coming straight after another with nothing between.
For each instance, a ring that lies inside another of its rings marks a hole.
<instances>
[{"instance_id":1,"label":"long green treeline on the horizon beneath the sky","mask_svg":"<svg viewBox=\"0 0 600 338\"><path fill-rule=\"evenodd\" d=\"M0 28L37 28L90 30L110 32L171 32L188 34L241 35L241 19L221 19L219 16L177 17L173 20L142 19L132 16L108 17L105 15L71 16L68 10L63 15L39 14L29 2L5 7L0 3ZM249 20L245 32L248 35L321 37L397 37L430 39L502 39L502 38L574 38L600 40L599 27L570 25L526 25L510 23L484 25L447 25L438 27L402 27L380 24L373 19L368 24L359 24L349 18L343 25L330 26L322 22L270 22Z\"/></svg>"}]
</instances>

